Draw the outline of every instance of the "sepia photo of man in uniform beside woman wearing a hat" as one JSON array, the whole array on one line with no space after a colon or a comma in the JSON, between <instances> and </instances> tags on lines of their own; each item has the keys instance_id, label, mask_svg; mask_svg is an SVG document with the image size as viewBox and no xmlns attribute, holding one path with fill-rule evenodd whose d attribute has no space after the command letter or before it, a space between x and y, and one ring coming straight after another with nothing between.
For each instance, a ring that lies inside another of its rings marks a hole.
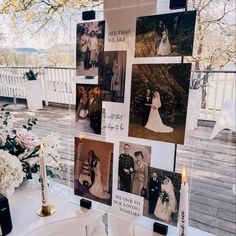
<instances>
[{"instance_id":1,"label":"sepia photo of man in uniform beside woman wearing a hat","mask_svg":"<svg viewBox=\"0 0 236 236\"><path fill-rule=\"evenodd\" d=\"M150 146L120 142L118 189L145 197L147 195L150 162Z\"/></svg>"}]
</instances>

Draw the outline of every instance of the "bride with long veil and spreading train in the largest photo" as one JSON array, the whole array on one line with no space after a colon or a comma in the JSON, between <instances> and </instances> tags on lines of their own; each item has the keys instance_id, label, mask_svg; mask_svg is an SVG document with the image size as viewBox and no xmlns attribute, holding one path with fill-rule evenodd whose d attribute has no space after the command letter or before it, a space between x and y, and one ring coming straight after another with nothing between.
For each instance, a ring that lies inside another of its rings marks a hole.
<instances>
[{"instance_id":1,"label":"bride with long veil and spreading train in the largest photo","mask_svg":"<svg viewBox=\"0 0 236 236\"><path fill-rule=\"evenodd\" d=\"M151 110L145 128L152 130L154 132L170 133L173 131L173 128L163 124L158 111L158 108L160 107L161 107L160 94L157 91L155 91L153 94Z\"/></svg>"}]
</instances>

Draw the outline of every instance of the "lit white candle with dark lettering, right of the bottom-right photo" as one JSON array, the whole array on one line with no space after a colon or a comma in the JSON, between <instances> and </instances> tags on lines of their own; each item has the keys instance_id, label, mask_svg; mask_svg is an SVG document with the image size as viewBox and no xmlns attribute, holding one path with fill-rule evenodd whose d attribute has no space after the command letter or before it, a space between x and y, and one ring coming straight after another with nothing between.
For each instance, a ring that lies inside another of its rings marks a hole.
<instances>
[{"instance_id":1,"label":"lit white candle with dark lettering, right of the bottom-right photo","mask_svg":"<svg viewBox=\"0 0 236 236\"><path fill-rule=\"evenodd\" d=\"M182 184L180 192L180 206L179 206L179 236L188 236L188 184L186 176L186 166L182 167Z\"/></svg>"}]
</instances>

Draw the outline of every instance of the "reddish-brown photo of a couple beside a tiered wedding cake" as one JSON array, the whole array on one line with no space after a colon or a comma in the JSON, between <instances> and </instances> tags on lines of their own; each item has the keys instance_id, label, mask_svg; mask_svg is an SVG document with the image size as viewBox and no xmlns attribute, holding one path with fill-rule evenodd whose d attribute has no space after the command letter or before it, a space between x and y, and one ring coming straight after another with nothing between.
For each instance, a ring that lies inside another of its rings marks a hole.
<instances>
[{"instance_id":1,"label":"reddish-brown photo of a couple beside a tiered wedding cake","mask_svg":"<svg viewBox=\"0 0 236 236\"><path fill-rule=\"evenodd\" d=\"M112 202L113 143L75 137L74 193Z\"/></svg>"}]
</instances>

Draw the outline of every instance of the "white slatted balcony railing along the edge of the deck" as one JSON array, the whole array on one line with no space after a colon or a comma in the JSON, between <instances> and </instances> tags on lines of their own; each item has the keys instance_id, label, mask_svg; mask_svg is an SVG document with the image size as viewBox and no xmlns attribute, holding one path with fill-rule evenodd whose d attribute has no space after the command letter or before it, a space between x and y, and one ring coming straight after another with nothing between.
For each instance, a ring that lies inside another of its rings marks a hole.
<instances>
[{"instance_id":1,"label":"white slatted balcony railing along the edge of the deck","mask_svg":"<svg viewBox=\"0 0 236 236\"><path fill-rule=\"evenodd\" d=\"M48 102L75 105L75 68L37 67L43 87L43 99ZM26 98L23 74L26 67L0 67L0 96ZM203 84L200 119L216 120L224 102L235 99L235 71L194 71Z\"/></svg>"}]
</instances>

